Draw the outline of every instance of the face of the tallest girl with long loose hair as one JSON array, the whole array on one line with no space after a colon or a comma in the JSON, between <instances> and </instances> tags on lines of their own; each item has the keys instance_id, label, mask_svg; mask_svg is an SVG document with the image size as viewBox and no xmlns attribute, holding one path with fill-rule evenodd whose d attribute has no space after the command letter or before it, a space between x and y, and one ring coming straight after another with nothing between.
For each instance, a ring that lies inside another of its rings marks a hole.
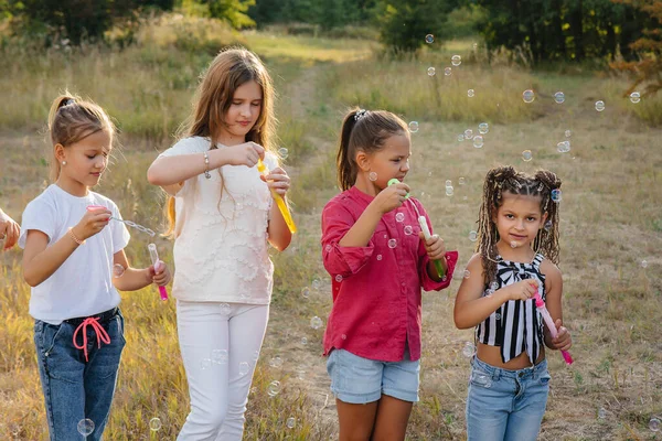
<instances>
[{"instance_id":1,"label":"face of the tallest girl with long loose hair","mask_svg":"<svg viewBox=\"0 0 662 441\"><path fill-rule=\"evenodd\" d=\"M259 84L250 80L235 90L229 109L225 114L223 135L246 138L259 118L263 106L263 90Z\"/></svg>"}]
</instances>

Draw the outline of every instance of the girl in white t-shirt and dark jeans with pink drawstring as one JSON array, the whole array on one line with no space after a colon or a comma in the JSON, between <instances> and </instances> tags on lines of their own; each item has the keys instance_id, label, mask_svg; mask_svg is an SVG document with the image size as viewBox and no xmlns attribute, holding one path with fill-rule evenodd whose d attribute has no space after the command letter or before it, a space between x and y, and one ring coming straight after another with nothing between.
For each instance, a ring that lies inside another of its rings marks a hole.
<instances>
[{"instance_id":1,"label":"girl in white t-shirt and dark jeans with pink drawstring","mask_svg":"<svg viewBox=\"0 0 662 441\"><path fill-rule=\"evenodd\" d=\"M109 222L121 219L117 205L89 190L113 149L115 128L106 112L60 96L49 129L55 183L23 213L23 277L32 287L30 314L51 440L78 440L83 433L96 441L108 420L126 343L117 290L164 286L170 272L164 265L158 272L129 266L124 251L129 233ZM111 276L114 267L118 277Z\"/></svg>"}]
</instances>

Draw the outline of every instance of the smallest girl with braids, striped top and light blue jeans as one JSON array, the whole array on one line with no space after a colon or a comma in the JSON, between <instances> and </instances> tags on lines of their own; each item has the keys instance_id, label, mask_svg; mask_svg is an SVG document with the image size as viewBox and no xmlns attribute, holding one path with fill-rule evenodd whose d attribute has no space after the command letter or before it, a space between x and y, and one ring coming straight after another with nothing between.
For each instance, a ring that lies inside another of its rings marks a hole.
<instances>
[{"instance_id":1,"label":"smallest girl with braids, striped top and light blue jeans","mask_svg":"<svg viewBox=\"0 0 662 441\"><path fill-rule=\"evenodd\" d=\"M545 346L567 351L562 325L558 263L560 180L512 166L488 172L479 212L477 254L455 304L459 329L476 327L467 398L468 439L535 440L545 413L549 374ZM540 289L558 335L552 338L535 308Z\"/></svg>"}]
</instances>

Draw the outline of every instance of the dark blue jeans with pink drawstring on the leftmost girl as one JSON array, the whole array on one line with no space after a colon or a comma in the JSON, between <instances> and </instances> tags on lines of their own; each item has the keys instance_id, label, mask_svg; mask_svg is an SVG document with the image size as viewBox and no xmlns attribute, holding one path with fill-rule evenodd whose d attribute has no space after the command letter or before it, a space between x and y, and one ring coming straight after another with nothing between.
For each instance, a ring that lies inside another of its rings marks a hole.
<instances>
[{"instance_id":1,"label":"dark blue jeans with pink drawstring on the leftmost girl","mask_svg":"<svg viewBox=\"0 0 662 441\"><path fill-rule=\"evenodd\" d=\"M34 322L34 345L51 441L102 439L126 341L121 313L100 324L110 343L102 342L100 348L97 347L96 331L87 326L88 361L85 361L83 349L73 344L76 326L66 322L58 325ZM82 331L76 342L82 344ZM78 422L86 418L95 427L87 438L78 432Z\"/></svg>"}]
</instances>

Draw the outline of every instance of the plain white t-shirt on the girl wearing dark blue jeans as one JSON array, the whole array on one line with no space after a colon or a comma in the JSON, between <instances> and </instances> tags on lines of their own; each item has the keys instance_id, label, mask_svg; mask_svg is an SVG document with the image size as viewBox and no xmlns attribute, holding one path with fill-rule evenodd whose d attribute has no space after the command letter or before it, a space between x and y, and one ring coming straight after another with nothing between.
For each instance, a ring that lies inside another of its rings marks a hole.
<instances>
[{"instance_id":1,"label":"plain white t-shirt on the girl wearing dark blue jeans","mask_svg":"<svg viewBox=\"0 0 662 441\"><path fill-rule=\"evenodd\" d=\"M50 185L23 212L19 246L25 248L28 232L36 229L49 236L49 245L68 234L85 215L88 205L103 205L121 218L117 205L106 196L89 192L74 196L57 185ZM113 255L129 243L127 227L117 220L85 240L46 280L32 288L30 315L60 324L63 320L88 316L119 304L113 286ZM73 240L73 239L72 239Z\"/></svg>"}]
</instances>

